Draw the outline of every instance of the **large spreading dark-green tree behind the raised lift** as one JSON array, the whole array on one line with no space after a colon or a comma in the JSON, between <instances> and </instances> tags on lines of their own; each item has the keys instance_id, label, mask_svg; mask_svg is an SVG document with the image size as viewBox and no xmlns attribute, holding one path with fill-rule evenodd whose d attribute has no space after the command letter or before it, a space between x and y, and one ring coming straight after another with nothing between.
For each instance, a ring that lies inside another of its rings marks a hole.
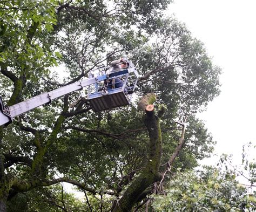
<instances>
[{"instance_id":1,"label":"large spreading dark-green tree behind the raised lift","mask_svg":"<svg viewBox=\"0 0 256 212\"><path fill-rule=\"evenodd\" d=\"M119 210L119 206L129 210L147 200L151 184L161 180L159 172L171 165L191 169L197 159L212 152L212 137L194 113L219 94L220 69L183 24L162 17L167 1L52 0L0 5L0 89L9 106L78 81L95 67L126 56L140 74L138 99L157 94L158 117L151 113L149 119L146 113L145 127L137 102L95 113L79 92L19 116L0 129L1 210L6 201L15 202L17 197L32 210L33 194L49 200L49 193L57 195L49 186L60 182L85 192L89 210L93 202L100 210ZM63 81L51 70L57 64L65 66L68 77ZM160 130L160 117L162 133L152 134L152 126ZM186 132L184 125L176 124L185 118ZM163 147L153 151L160 137ZM173 152L177 154L170 163ZM166 162L168 166L160 166ZM151 179L144 182L141 177L146 170ZM131 190L137 191L136 201ZM22 198L21 193L28 195Z\"/></svg>"}]
</instances>

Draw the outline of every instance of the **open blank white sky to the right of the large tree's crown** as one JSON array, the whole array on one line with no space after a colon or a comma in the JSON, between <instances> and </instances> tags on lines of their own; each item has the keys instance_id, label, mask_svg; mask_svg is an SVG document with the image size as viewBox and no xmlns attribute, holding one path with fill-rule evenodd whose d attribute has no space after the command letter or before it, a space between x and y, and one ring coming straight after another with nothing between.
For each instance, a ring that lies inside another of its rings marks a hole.
<instances>
[{"instance_id":1,"label":"open blank white sky to the right of the large tree's crown","mask_svg":"<svg viewBox=\"0 0 256 212\"><path fill-rule=\"evenodd\" d=\"M215 152L237 163L242 145L256 141L255 9L254 0L176 0L169 9L223 69L221 94L198 117L217 141Z\"/></svg>"}]
</instances>

